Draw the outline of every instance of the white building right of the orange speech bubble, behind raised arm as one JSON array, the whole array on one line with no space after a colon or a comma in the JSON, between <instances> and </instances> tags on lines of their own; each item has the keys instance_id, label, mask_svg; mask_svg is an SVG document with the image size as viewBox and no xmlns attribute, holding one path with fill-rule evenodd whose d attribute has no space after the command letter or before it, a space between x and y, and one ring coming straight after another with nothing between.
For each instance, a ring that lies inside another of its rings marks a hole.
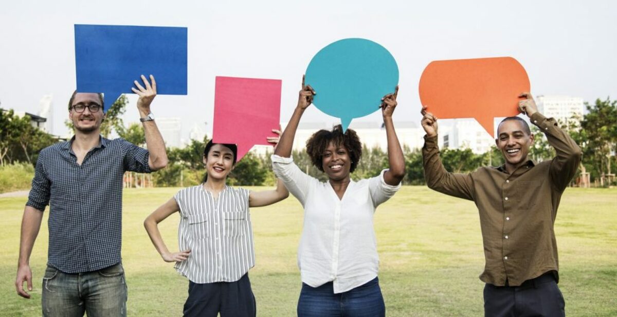
<instances>
[{"instance_id":1,"label":"white building right of the orange speech bubble, behind raised arm","mask_svg":"<svg viewBox=\"0 0 617 317\"><path fill-rule=\"evenodd\" d=\"M582 98L572 96L544 96L536 97L538 111L546 117L553 117L567 124L574 115L582 117L585 106Z\"/></svg>"}]
</instances>

